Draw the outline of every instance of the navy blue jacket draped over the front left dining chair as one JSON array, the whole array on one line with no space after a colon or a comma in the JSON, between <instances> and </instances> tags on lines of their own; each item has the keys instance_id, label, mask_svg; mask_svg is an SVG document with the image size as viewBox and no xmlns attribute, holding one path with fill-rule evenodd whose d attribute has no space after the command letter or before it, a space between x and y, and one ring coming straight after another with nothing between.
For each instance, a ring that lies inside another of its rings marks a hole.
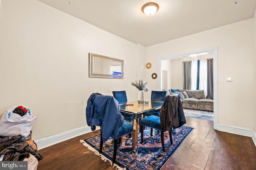
<instances>
[{"instance_id":1,"label":"navy blue jacket draped over the front left dining chair","mask_svg":"<svg viewBox=\"0 0 256 170\"><path fill-rule=\"evenodd\" d=\"M86 106L87 125L92 130L100 126L103 141L107 141L110 136L116 138L124 123L124 117L119 111L120 106L114 97L92 93Z\"/></svg>"}]
</instances>

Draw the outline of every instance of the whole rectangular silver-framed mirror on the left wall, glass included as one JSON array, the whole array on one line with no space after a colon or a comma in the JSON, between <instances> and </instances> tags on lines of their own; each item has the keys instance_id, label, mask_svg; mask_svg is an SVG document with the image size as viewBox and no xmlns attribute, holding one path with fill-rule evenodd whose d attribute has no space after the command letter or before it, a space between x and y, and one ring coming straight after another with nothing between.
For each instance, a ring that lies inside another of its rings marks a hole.
<instances>
[{"instance_id":1,"label":"whole rectangular silver-framed mirror on the left wall, glass included","mask_svg":"<svg viewBox=\"0 0 256 170\"><path fill-rule=\"evenodd\" d=\"M89 77L124 78L124 60L89 53Z\"/></svg>"}]
</instances>

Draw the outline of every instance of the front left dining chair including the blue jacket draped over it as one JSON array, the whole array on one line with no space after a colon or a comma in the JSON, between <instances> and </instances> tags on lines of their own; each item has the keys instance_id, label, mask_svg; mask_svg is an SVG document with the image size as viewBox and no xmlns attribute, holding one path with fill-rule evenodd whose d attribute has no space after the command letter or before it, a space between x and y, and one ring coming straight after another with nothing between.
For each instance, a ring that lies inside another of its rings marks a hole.
<instances>
[{"instance_id":1,"label":"front left dining chair including the blue jacket draped over it","mask_svg":"<svg viewBox=\"0 0 256 170\"><path fill-rule=\"evenodd\" d=\"M114 153L112 162L116 162L117 143L121 142L121 137L129 134L131 137L133 123L124 121L120 114L118 101L112 96L105 96L100 93L92 93L87 101L86 122L95 130L100 126L100 150L102 152L103 141L110 137L114 138Z\"/></svg>"}]
</instances>

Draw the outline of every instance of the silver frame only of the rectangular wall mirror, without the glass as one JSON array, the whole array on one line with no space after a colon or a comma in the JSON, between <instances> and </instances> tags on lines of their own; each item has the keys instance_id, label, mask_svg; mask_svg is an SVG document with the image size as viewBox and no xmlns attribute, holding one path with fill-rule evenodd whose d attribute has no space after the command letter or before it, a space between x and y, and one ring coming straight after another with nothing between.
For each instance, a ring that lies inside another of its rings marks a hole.
<instances>
[{"instance_id":1,"label":"silver frame only of the rectangular wall mirror, without the glass","mask_svg":"<svg viewBox=\"0 0 256 170\"><path fill-rule=\"evenodd\" d=\"M121 72L122 72L121 75L106 74L106 73L94 73L93 72L94 57L97 57L97 58L103 59L103 60L115 61L115 62L121 63ZM124 60L107 57L104 55L89 53L89 77L123 79L124 78Z\"/></svg>"}]
</instances>

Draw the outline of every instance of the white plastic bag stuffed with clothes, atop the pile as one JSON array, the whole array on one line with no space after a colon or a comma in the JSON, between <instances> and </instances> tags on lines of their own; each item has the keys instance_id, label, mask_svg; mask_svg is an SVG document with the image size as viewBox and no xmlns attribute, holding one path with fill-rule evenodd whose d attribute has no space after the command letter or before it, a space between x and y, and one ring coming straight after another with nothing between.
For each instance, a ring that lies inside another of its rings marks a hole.
<instances>
[{"instance_id":1,"label":"white plastic bag stuffed with clothes, atop the pile","mask_svg":"<svg viewBox=\"0 0 256 170\"><path fill-rule=\"evenodd\" d=\"M0 119L0 136L28 136L36 116L23 105L8 108Z\"/></svg>"}]
</instances>

